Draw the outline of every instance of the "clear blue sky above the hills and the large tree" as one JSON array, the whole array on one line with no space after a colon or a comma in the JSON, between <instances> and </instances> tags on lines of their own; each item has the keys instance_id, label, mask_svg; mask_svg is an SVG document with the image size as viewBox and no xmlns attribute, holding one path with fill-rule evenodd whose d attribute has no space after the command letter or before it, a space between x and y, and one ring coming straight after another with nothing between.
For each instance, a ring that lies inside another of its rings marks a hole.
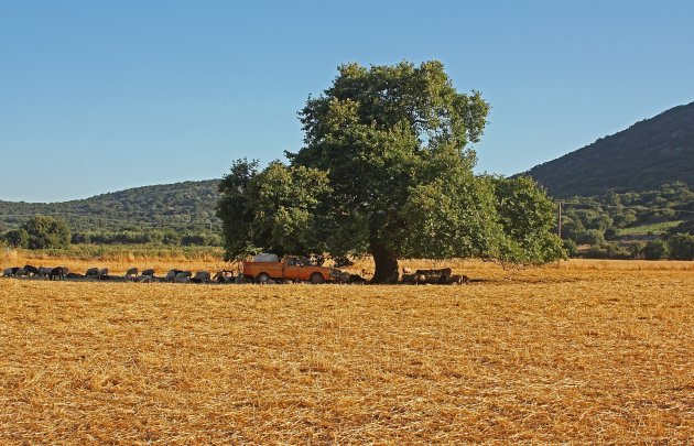
<instances>
[{"instance_id":1,"label":"clear blue sky above the hills and the large tree","mask_svg":"<svg viewBox=\"0 0 694 446\"><path fill-rule=\"evenodd\" d=\"M694 100L692 1L0 0L0 199L220 177L337 65L440 59L513 174Z\"/></svg>"}]
</instances>

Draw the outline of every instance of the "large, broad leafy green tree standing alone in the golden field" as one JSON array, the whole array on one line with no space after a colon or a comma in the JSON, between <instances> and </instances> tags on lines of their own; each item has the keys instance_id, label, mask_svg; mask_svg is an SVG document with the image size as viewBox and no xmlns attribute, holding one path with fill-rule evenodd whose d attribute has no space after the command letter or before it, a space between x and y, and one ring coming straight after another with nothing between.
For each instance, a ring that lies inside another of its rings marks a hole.
<instances>
[{"instance_id":1,"label":"large, broad leafy green tree standing alone in the golden field","mask_svg":"<svg viewBox=\"0 0 694 446\"><path fill-rule=\"evenodd\" d=\"M552 205L528 178L474 175L489 105L440 62L347 64L300 112L289 165L237 161L218 216L228 257L252 249L371 254L375 282L402 258L542 263L563 255Z\"/></svg>"}]
</instances>

